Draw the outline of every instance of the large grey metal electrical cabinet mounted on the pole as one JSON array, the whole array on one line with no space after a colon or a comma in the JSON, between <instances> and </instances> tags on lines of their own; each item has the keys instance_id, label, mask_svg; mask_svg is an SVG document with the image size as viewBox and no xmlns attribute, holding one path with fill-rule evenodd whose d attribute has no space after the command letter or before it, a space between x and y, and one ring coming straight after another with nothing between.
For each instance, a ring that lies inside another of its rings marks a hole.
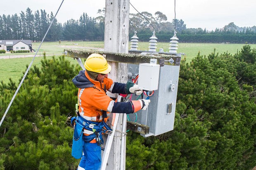
<instances>
[{"instance_id":1,"label":"large grey metal electrical cabinet mounted on the pole","mask_svg":"<svg viewBox=\"0 0 256 170\"><path fill-rule=\"evenodd\" d=\"M128 69L131 69L130 66ZM137 112L136 122L149 126L149 134L143 135L144 137L173 130L179 72L180 64L160 67L158 90L155 90L154 96L150 98L148 109ZM129 117L131 121L136 119L135 114L129 114Z\"/></svg>"}]
</instances>

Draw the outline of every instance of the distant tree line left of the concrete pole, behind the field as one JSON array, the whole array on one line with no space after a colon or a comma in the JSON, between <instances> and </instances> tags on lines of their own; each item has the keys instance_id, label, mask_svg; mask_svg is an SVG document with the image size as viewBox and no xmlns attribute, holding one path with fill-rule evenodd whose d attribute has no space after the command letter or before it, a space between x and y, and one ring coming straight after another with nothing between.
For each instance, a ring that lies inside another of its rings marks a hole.
<instances>
[{"instance_id":1,"label":"distant tree line left of the concrete pole, behind the field","mask_svg":"<svg viewBox=\"0 0 256 170\"><path fill-rule=\"evenodd\" d=\"M53 20L54 15L47 14L45 10L32 12L27 8L20 15L0 15L0 40L41 41ZM78 20L70 19L65 23L58 23L55 19L45 37L45 41L76 40L95 41L104 40L104 23L97 22L95 18L83 13Z\"/></svg>"}]
</instances>

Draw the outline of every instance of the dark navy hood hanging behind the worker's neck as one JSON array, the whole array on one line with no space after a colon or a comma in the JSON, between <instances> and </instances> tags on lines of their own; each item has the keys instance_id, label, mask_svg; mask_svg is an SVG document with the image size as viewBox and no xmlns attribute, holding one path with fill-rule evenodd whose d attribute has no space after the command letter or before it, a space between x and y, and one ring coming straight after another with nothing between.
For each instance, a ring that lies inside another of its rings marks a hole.
<instances>
[{"instance_id":1,"label":"dark navy hood hanging behind the worker's neck","mask_svg":"<svg viewBox=\"0 0 256 170\"><path fill-rule=\"evenodd\" d=\"M94 86L94 84L85 76L85 70L81 70L79 74L72 79L72 82L78 88L88 88Z\"/></svg>"}]
</instances>

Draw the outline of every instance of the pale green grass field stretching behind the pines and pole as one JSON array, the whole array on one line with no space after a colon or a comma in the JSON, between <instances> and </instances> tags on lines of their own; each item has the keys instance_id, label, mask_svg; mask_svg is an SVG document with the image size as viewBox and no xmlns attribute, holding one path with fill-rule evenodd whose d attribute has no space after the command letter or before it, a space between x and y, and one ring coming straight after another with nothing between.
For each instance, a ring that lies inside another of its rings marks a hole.
<instances>
[{"instance_id":1,"label":"pale green grass field stretching behind the pines and pole","mask_svg":"<svg viewBox=\"0 0 256 170\"><path fill-rule=\"evenodd\" d=\"M138 42L138 50L147 51L149 47L149 42ZM164 42L157 43L157 51L160 48L163 48L165 52L169 51L169 44ZM33 43L33 49L37 50L40 43ZM214 49L219 54L228 52L230 54L236 54L237 51L241 51L242 47L245 44L211 44L211 43L179 43L178 44L178 53L184 53L183 57L186 57L186 61L190 62L192 58L197 56L200 51L200 55L207 56L211 54ZM251 48L256 48L256 44L250 44ZM130 44L129 44L130 46ZM61 55L64 49L104 49L104 42L44 42L38 51L38 54L43 56L43 52L46 55ZM130 48L129 48L130 49ZM35 53L29 53L35 54ZM26 70L26 65L29 65L32 61L32 58L12 58L15 55L24 55L24 53L19 54L0 54L1 56L9 55L10 59L0 59L0 81L4 83L9 82L9 77L12 78L14 82L19 83L19 79L23 76L23 73ZM27 53L25 54L27 55ZM47 58L51 58L47 56ZM40 60L42 57L36 57L33 65L40 66ZM67 57L73 64L76 64L76 60Z\"/></svg>"}]
</instances>

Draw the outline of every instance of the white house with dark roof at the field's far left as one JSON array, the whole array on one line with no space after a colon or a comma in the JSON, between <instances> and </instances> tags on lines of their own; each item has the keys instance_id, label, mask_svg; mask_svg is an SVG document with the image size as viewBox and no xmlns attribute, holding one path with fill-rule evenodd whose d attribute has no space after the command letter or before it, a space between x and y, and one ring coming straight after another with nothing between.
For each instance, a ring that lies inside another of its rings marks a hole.
<instances>
[{"instance_id":1,"label":"white house with dark roof at the field's far left","mask_svg":"<svg viewBox=\"0 0 256 170\"><path fill-rule=\"evenodd\" d=\"M31 40L0 40L0 49L5 51L29 50L32 51Z\"/></svg>"}]
</instances>

